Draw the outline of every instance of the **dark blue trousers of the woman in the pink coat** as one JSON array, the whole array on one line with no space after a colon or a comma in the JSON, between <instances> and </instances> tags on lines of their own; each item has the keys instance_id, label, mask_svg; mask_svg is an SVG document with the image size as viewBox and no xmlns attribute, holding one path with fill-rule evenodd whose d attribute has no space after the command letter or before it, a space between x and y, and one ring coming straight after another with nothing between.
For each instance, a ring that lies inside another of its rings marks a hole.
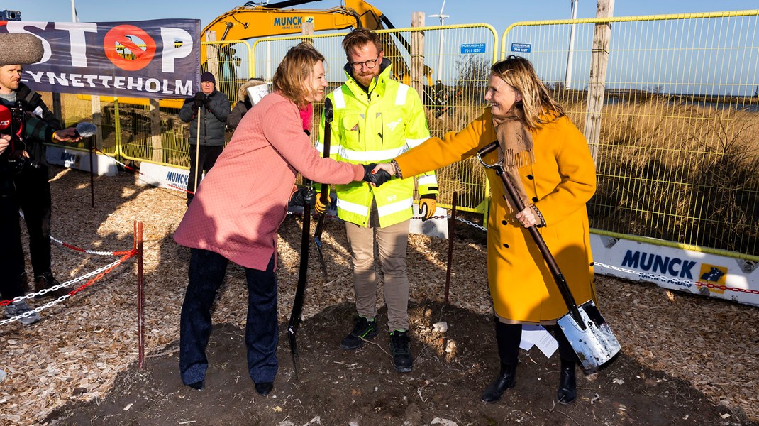
<instances>
[{"instance_id":1,"label":"dark blue trousers of the woman in the pink coat","mask_svg":"<svg viewBox=\"0 0 759 426\"><path fill-rule=\"evenodd\" d=\"M206 346L211 335L211 306L229 260L213 251L191 249L190 283L184 295L179 327L179 371L182 383L205 380ZM273 382L277 374L277 282L274 256L266 271L245 268L247 279L247 368L255 383Z\"/></svg>"}]
</instances>

